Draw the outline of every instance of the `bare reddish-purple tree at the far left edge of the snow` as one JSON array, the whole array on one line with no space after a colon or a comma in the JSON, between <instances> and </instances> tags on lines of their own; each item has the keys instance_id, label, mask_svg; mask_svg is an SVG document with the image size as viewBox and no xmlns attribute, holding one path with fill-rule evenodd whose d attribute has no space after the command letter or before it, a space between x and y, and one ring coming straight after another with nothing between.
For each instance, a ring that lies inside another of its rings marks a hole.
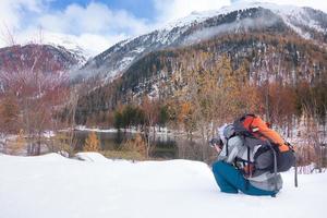
<instances>
[{"instance_id":1,"label":"bare reddish-purple tree at the far left edge of the snow","mask_svg":"<svg viewBox=\"0 0 327 218\"><path fill-rule=\"evenodd\" d=\"M65 102L68 76L57 62L50 61L51 53L43 45L26 45L26 53L21 53L21 46L9 49L16 61L2 60L1 96L12 96L17 101L16 123L27 135L27 154L39 155L45 131L53 128L56 113Z\"/></svg>"}]
</instances>

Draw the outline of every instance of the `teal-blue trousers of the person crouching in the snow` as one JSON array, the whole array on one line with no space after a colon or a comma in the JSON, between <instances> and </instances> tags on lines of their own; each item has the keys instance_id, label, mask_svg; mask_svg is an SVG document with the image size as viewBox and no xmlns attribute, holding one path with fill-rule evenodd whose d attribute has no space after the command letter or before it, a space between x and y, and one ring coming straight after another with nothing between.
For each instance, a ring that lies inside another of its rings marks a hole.
<instances>
[{"instance_id":1,"label":"teal-blue trousers of the person crouching in the snow","mask_svg":"<svg viewBox=\"0 0 327 218\"><path fill-rule=\"evenodd\" d=\"M259 190L253 186L243 174L233 166L217 161L213 166L214 175L221 192L239 193L239 190L249 195L270 195L275 196L275 191Z\"/></svg>"}]
</instances>

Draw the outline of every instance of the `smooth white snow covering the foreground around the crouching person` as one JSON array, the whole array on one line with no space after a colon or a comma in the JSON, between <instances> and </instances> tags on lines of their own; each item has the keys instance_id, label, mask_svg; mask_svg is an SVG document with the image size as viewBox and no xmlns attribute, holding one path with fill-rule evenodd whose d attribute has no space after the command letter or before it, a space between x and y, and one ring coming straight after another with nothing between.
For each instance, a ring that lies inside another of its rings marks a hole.
<instances>
[{"instance_id":1,"label":"smooth white snow covering the foreground around the crouching person","mask_svg":"<svg viewBox=\"0 0 327 218\"><path fill-rule=\"evenodd\" d=\"M210 168L190 160L130 162L99 154L0 154L1 218L326 217L327 173L283 173L272 197L220 193Z\"/></svg>"}]
</instances>

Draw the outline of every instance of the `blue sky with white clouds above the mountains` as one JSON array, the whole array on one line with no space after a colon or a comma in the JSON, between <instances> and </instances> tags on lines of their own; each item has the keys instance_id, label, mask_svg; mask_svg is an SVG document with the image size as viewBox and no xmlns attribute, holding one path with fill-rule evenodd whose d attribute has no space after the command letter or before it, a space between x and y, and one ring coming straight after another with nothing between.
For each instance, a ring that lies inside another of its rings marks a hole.
<instances>
[{"instance_id":1,"label":"blue sky with white clouds above the mountains","mask_svg":"<svg viewBox=\"0 0 327 218\"><path fill-rule=\"evenodd\" d=\"M0 47L14 33L15 41L27 43L50 35L66 36L93 55L133 36L153 31L192 11L216 10L251 0L0 0ZM325 0L266 0L280 4L307 5L327 12Z\"/></svg>"}]
</instances>

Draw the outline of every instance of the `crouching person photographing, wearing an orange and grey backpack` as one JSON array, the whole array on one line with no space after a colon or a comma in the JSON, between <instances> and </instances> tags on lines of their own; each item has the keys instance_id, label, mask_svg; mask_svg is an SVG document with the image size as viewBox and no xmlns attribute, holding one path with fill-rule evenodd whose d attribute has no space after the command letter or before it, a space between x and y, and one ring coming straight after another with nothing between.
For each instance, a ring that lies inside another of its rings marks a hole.
<instances>
[{"instance_id":1,"label":"crouching person photographing, wearing an orange and grey backpack","mask_svg":"<svg viewBox=\"0 0 327 218\"><path fill-rule=\"evenodd\" d=\"M295 156L291 146L256 116L244 116L220 128L219 136L210 141L219 153L213 171L221 192L276 196L281 190L278 172L289 170Z\"/></svg>"}]
</instances>

